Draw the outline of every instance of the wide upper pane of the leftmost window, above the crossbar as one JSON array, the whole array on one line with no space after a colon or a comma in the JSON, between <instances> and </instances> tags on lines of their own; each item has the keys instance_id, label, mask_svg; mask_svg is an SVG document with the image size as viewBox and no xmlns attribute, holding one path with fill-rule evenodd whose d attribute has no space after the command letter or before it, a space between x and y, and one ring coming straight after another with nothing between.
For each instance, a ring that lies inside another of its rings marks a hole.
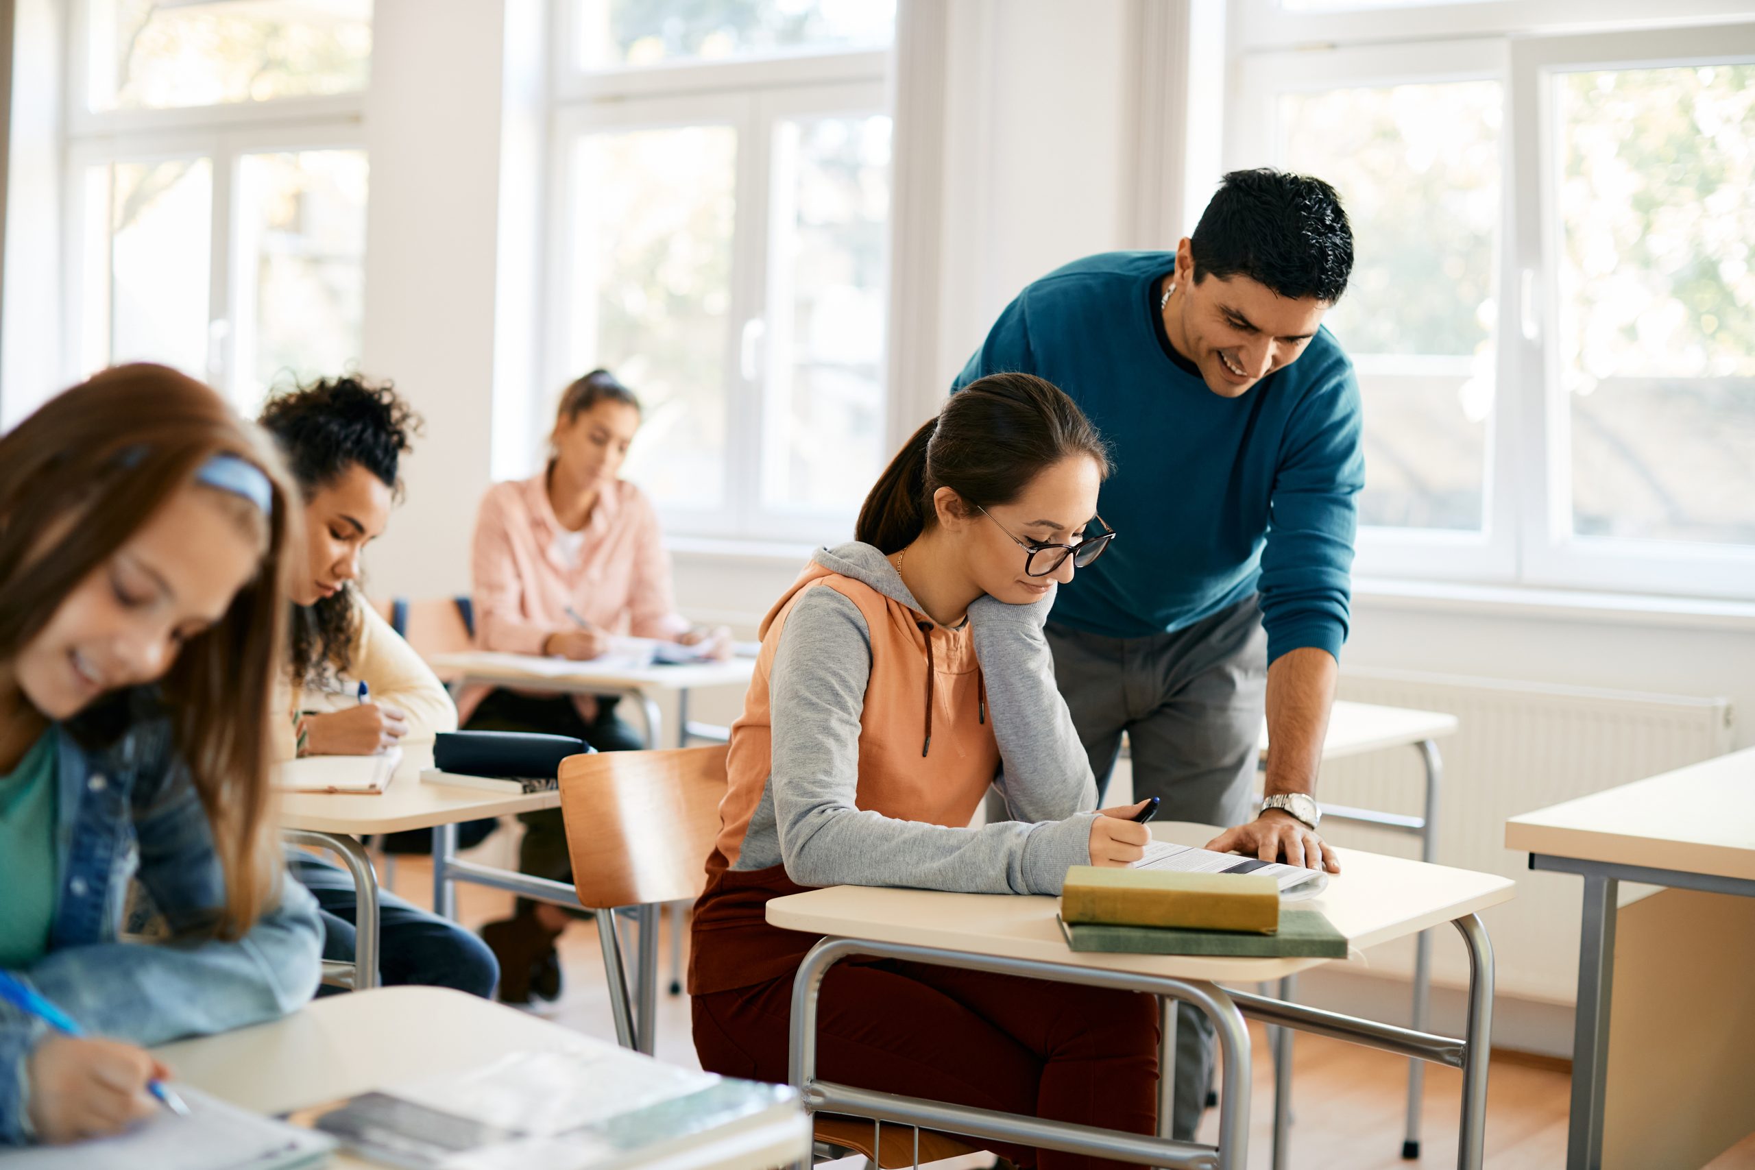
<instances>
[{"instance_id":1,"label":"wide upper pane of the leftmost window, above the crossbar","mask_svg":"<svg viewBox=\"0 0 1755 1170\"><path fill-rule=\"evenodd\" d=\"M372 0L88 0L91 109L363 89Z\"/></svg>"}]
</instances>

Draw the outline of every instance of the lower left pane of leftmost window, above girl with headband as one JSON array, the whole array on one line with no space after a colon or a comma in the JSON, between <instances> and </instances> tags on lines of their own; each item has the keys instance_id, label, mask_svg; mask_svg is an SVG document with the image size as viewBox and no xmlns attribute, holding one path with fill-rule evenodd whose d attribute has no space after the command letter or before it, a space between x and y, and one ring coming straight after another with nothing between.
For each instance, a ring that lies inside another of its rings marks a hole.
<instances>
[{"instance_id":1,"label":"lower left pane of leftmost window, above girl with headband","mask_svg":"<svg viewBox=\"0 0 1755 1170\"><path fill-rule=\"evenodd\" d=\"M184 158L86 172L82 360L163 361L207 377L212 163Z\"/></svg>"}]
</instances>

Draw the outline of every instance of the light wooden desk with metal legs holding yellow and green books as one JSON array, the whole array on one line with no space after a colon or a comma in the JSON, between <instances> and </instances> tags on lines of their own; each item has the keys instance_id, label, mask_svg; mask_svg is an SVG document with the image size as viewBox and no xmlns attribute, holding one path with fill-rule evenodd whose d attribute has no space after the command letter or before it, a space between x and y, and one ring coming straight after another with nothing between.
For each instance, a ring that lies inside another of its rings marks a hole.
<instances>
[{"instance_id":1,"label":"light wooden desk with metal legs holding yellow and green books","mask_svg":"<svg viewBox=\"0 0 1755 1170\"><path fill-rule=\"evenodd\" d=\"M1179 844L1202 844L1218 833L1207 824L1153 824L1153 835ZM1318 1031L1430 1059L1464 1072L1458 1165L1481 1165L1486 1109L1486 1044L1492 1028L1494 958L1476 914L1508 902L1515 884L1495 874L1474 874L1339 849L1341 874L1309 905L1323 910L1355 947L1372 947L1439 923L1453 923L1469 945L1469 1028L1464 1040L1434 1037L1411 1028L1353 1019L1336 1012L1227 991L1218 981L1264 982L1316 967L1325 960L1237 960L1207 956L1078 954L1067 949L1055 924L1058 900L1004 895L951 895L925 889L837 886L776 898L767 919L786 930L827 935L799 968L792 1019L793 1086L806 1107L851 1112L902 1124L1069 1149L1164 1165L1243 1166L1250 1117L1250 1040L1243 1016L1272 1024ZM816 995L823 974L849 956L879 956L941 963L972 970L1032 975L1062 982L1151 991L1188 1000L1213 1017L1223 1052L1220 1145L1216 1149L1055 1126L1034 1117L990 1114L937 1102L892 1098L851 1086L816 1081Z\"/></svg>"}]
</instances>

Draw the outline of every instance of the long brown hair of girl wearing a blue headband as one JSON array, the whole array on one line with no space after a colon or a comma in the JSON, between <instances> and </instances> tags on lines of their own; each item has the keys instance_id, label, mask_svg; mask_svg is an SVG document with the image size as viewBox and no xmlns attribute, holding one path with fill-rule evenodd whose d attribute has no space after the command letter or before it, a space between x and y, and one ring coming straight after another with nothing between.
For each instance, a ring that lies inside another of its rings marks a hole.
<instances>
[{"instance_id":1,"label":"long brown hair of girl wearing a blue headband","mask_svg":"<svg viewBox=\"0 0 1755 1170\"><path fill-rule=\"evenodd\" d=\"M160 365L104 370L0 439L0 660L18 656L61 600L221 453L253 463L272 486L270 516L221 493L258 540L261 561L225 617L183 646L156 691L225 868L214 928L237 937L279 882L267 719L284 653L286 551L297 547L290 540L298 512L267 439L212 389ZM74 723L88 737L116 730L118 714L137 710L142 698L109 695Z\"/></svg>"}]
</instances>

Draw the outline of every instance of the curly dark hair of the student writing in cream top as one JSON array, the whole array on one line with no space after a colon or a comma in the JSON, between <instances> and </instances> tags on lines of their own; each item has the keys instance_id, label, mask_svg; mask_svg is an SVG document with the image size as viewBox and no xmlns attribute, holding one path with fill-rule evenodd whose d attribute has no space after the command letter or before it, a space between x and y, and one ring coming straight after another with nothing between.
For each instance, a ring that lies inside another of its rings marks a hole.
<instances>
[{"instance_id":1,"label":"curly dark hair of the student writing in cream top","mask_svg":"<svg viewBox=\"0 0 1755 1170\"><path fill-rule=\"evenodd\" d=\"M263 407L260 423L281 446L305 500L356 463L400 500L398 461L414 449L412 439L421 433L421 417L397 395L391 382L356 374L318 379L274 395ZM293 605L288 633L293 679L298 684L346 674L355 605L351 582L314 605Z\"/></svg>"}]
</instances>

